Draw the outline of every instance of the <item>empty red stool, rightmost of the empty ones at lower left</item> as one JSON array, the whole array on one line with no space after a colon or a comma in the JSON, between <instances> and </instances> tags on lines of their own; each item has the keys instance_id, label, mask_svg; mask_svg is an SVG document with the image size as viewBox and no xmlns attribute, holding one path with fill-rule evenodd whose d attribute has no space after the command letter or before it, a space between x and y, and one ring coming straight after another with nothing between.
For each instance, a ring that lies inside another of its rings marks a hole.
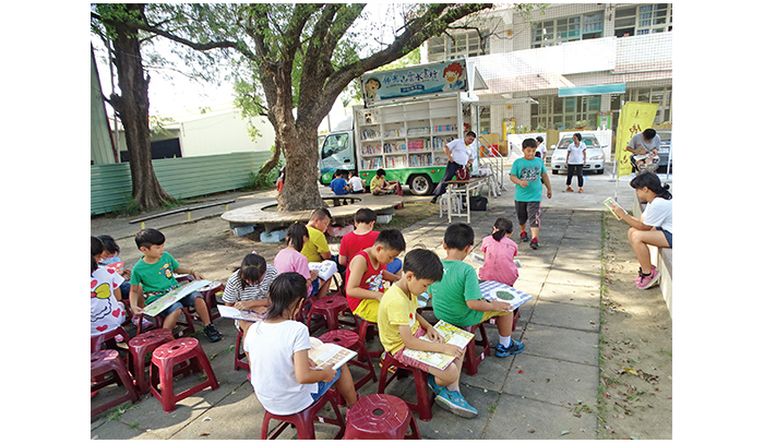
<instances>
[{"instance_id":1,"label":"empty red stool, rightmost of the empty ones at lower left","mask_svg":"<svg viewBox=\"0 0 764 443\"><path fill-rule=\"evenodd\" d=\"M187 364L179 372L200 372L203 370L207 375L207 380L176 395L172 392L172 376L177 372L174 373L172 368L180 363ZM207 356L202 350L199 340L193 337L178 338L156 348L152 355L150 374L151 392L162 403L162 408L165 412L174 411L176 403L205 387L212 387L213 391L220 387L217 384L215 373L212 371ZM159 383L162 384L162 391L158 391Z\"/></svg>"}]
</instances>

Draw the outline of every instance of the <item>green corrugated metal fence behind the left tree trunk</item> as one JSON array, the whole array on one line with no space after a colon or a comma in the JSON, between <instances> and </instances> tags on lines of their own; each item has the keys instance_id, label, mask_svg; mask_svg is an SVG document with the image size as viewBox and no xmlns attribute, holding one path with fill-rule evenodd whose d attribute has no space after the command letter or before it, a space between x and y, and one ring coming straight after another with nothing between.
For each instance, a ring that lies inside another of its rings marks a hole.
<instances>
[{"instance_id":1,"label":"green corrugated metal fence behind the left tree trunk","mask_svg":"<svg viewBox=\"0 0 764 443\"><path fill-rule=\"evenodd\" d=\"M205 155L152 160L162 188L176 199L231 191L247 184L270 152ZM132 195L130 164L91 166L91 214L123 209Z\"/></svg>"}]
</instances>

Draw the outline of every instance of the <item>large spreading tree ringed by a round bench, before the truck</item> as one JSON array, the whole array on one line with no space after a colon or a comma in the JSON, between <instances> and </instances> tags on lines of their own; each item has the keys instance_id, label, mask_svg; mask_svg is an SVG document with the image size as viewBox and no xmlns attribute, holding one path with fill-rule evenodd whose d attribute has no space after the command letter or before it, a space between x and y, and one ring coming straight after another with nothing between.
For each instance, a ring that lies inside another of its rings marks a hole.
<instances>
[{"instance_id":1,"label":"large spreading tree ringed by a round bench, before the truck","mask_svg":"<svg viewBox=\"0 0 764 443\"><path fill-rule=\"evenodd\" d=\"M286 159L279 211L325 205L319 194L318 128L343 89L440 35L487 3L420 3L405 9L393 41L368 56L359 26L365 4L151 4L142 29L198 50L198 60L235 67L241 104L265 115L276 134L274 167ZM368 22L367 22L368 23ZM361 41L359 46L359 41ZM265 166L263 169L265 169ZM262 172L262 169L261 169Z\"/></svg>"}]
</instances>

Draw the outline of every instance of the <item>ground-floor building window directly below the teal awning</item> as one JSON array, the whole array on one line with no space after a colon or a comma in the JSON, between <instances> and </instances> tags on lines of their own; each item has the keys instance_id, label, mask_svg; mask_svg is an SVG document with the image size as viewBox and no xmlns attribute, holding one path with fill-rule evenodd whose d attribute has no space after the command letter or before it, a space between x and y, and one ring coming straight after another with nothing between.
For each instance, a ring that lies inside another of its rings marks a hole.
<instances>
[{"instance_id":1,"label":"ground-floor building window directly below the teal awning","mask_svg":"<svg viewBox=\"0 0 764 443\"><path fill-rule=\"evenodd\" d=\"M547 129L597 127L597 112L601 109L601 96L557 97L548 95L536 98L538 105L530 106L530 125Z\"/></svg>"}]
</instances>

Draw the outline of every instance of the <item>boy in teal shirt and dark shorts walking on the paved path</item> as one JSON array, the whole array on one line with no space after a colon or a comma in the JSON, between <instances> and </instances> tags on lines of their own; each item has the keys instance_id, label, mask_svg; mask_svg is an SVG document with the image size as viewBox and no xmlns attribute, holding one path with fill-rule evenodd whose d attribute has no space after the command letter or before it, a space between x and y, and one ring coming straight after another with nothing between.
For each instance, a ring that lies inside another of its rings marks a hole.
<instances>
[{"instance_id":1,"label":"boy in teal shirt and dark shorts walking on the paved path","mask_svg":"<svg viewBox=\"0 0 764 443\"><path fill-rule=\"evenodd\" d=\"M547 197L552 197L544 160L536 157L536 141L523 140L523 158L512 164L510 180L515 183L515 211L520 223L520 241L528 241L525 224L530 219L530 248L538 249L538 231L541 227L541 181L547 187Z\"/></svg>"}]
</instances>

